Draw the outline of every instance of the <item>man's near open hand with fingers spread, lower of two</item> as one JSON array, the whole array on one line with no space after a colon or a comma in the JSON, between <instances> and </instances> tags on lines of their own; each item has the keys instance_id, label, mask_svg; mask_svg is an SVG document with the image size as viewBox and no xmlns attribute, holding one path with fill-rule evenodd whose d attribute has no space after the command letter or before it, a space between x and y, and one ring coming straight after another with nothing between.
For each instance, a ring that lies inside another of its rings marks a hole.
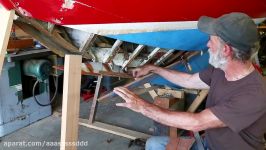
<instances>
[{"instance_id":1,"label":"man's near open hand with fingers spread, lower of two","mask_svg":"<svg viewBox=\"0 0 266 150\"><path fill-rule=\"evenodd\" d=\"M148 104L125 87L116 87L114 88L114 92L125 100L125 103L117 103L116 106L126 107L133 111L141 112L142 108Z\"/></svg>"}]
</instances>

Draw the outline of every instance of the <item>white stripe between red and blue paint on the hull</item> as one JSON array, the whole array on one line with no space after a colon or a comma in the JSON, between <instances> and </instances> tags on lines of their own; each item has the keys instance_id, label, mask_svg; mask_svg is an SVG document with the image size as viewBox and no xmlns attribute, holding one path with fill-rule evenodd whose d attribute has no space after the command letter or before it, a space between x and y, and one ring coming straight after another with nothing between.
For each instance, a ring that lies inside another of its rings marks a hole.
<instances>
[{"instance_id":1,"label":"white stripe between red and blue paint on the hull","mask_svg":"<svg viewBox=\"0 0 266 150\"><path fill-rule=\"evenodd\" d=\"M266 18L257 18L254 19L254 21L256 23L260 23L265 19ZM117 34L141 33L141 32L197 29L197 23L198 21L176 21L176 22L82 24L82 25L64 25L64 26L99 35L117 35Z\"/></svg>"}]
</instances>

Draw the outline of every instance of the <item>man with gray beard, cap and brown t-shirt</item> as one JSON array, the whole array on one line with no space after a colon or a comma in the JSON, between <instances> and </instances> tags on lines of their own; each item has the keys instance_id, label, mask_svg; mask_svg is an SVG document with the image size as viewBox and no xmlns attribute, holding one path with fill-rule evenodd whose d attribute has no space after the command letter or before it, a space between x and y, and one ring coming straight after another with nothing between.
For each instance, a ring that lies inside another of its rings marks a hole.
<instances>
[{"instance_id":1,"label":"man with gray beard, cap and brown t-shirt","mask_svg":"<svg viewBox=\"0 0 266 150\"><path fill-rule=\"evenodd\" d=\"M190 89L209 89L206 109L199 113L173 112L150 104L125 87L114 92L125 103L117 106L139 112L162 124L190 131L205 130L205 149L263 150L266 131L266 86L254 69L251 55L258 42L256 24L243 13L219 18L203 16L200 31L210 35L207 43L212 65L187 74L153 65L133 70L134 77L150 72ZM151 137L147 150L163 150L168 137Z\"/></svg>"}]
</instances>

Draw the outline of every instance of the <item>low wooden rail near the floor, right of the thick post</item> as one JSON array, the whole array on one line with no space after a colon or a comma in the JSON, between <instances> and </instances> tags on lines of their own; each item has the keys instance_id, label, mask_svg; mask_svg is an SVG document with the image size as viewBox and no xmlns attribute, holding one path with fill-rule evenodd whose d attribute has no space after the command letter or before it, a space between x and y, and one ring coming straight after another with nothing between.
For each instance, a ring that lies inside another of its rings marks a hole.
<instances>
[{"instance_id":1,"label":"low wooden rail near the floor, right of the thick post","mask_svg":"<svg viewBox=\"0 0 266 150\"><path fill-rule=\"evenodd\" d=\"M102 123L102 122L94 121L92 124L88 124L87 119L79 119L79 125L92 128L92 129L96 129L96 130L100 130L100 131L104 131L107 133L112 133L112 134L119 135L125 138L133 139L133 140L137 138L147 139L150 137L150 135L145 134L145 133L125 129L122 127L117 127L117 126Z\"/></svg>"}]
</instances>

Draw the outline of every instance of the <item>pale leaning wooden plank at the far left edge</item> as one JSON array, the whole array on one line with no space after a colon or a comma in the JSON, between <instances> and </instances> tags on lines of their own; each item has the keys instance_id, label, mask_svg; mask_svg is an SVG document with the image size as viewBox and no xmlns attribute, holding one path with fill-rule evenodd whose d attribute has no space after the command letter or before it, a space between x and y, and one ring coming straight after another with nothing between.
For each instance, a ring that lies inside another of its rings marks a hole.
<instances>
[{"instance_id":1,"label":"pale leaning wooden plank at the far left edge","mask_svg":"<svg viewBox=\"0 0 266 150\"><path fill-rule=\"evenodd\" d=\"M0 7L0 14L1 14L1 27L0 27L0 75L1 75L15 11L14 10L8 11L5 8Z\"/></svg>"}]
</instances>

